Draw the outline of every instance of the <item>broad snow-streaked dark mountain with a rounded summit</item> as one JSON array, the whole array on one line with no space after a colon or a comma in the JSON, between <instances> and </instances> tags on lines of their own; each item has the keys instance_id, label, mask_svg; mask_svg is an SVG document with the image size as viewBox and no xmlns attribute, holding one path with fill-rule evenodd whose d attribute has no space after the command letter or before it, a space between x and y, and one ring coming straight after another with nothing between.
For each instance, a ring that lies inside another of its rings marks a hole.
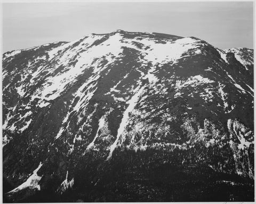
<instances>
[{"instance_id":1,"label":"broad snow-streaked dark mountain with a rounded summit","mask_svg":"<svg viewBox=\"0 0 256 204\"><path fill-rule=\"evenodd\" d=\"M179 167L203 164L211 174L239 177L253 192L251 49L220 50L195 37L117 30L6 52L2 73L7 201L35 201L33 195L42 192L58 195L49 201L61 201L67 190L74 195L69 201L182 201L176 194L163 197L166 186L144 195L154 189L138 184L135 190L128 184L135 178L122 185L119 200L101 197L95 189L98 194L74 194L83 179L84 186L96 188L108 165L121 164L129 155L138 161L124 164L148 166L151 151L161 160L156 165L153 159L153 166L173 164L175 159L163 159L163 152L171 157L179 151ZM223 178L214 182L238 185ZM124 193L131 189L145 199ZM253 193L243 198L232 193L223 199L254 198ZM157 200L159 195L166 199Z\"/></svg>"}]
</instances>

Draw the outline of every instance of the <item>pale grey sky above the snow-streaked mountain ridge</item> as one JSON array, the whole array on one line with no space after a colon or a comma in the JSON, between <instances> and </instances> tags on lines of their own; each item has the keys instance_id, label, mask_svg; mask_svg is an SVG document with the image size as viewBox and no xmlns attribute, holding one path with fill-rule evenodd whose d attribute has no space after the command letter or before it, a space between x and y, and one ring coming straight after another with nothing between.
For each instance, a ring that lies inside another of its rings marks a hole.
<instances>
[{"instance_id":1,"label":"pale grey sky above the snow-streaked mountain ridge","mask_svg":"<svg viewBox=\"0 0 256 204\"><path fill-rule=\"evenodd\" d=\"M253 48L253 2L3 3L2 52L117 29Z\"/></svg>"}]
</instances>

